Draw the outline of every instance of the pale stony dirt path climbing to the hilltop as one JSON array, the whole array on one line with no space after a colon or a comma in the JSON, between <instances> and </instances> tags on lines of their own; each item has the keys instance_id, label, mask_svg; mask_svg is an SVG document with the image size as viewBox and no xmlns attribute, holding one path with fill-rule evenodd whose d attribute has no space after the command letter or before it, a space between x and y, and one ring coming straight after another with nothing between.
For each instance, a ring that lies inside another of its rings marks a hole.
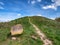
<instances>
[{"instance_id":1,"label":"pale stony dirt path climbing to the hilltop","mask_svg":"<svg viewBox=\"0 0 60 45\"><path fill-rule=\"evenodd\" d=\"M28 17L29 18L29 17ZM30 24L35 28L36 33L40 36L40 39L43 41L43 45L52 45L52 42L46 38L46 35L35 25L30 21L29 18L29 22Z\"/></svg>"}]
</instances>

